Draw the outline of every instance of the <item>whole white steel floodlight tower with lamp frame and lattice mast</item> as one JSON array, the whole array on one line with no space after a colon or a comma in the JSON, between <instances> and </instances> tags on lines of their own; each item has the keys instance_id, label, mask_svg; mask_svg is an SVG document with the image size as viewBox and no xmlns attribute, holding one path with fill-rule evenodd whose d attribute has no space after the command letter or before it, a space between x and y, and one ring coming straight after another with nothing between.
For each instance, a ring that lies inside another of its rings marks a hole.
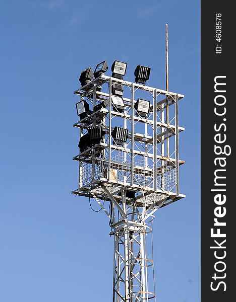
<instances>
[{"instance_id":1,"label":"whole white steel floodlight tower with lamp frame and lattice mast","mask_svg":"<svg viewBox=\"0 0 236 302\"><path fill-rule=\"evenodd\" d=\"M154 212L185 197L179 189L184 95L146 86L149 67L138 65L132 83L123 79L127 63L116 60L113 77L104 74L102 63L95 79L74 92L80 96L80 120L74 124L80 152L73 158L79 162L79 187L72 193L94 198L108 216L114 236L112 301L148 301L155 297L147 236ZM119 70L122 77L115 77Z\"/></svg>"}]
</instances>

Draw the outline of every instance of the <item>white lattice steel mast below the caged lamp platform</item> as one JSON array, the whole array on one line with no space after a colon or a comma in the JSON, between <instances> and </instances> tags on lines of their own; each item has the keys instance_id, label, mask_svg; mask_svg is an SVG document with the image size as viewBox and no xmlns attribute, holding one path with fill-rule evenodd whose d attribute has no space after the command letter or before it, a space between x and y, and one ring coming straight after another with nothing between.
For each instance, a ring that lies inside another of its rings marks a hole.
<instances>
[{"instance_id":1,"label":"white lattice steel mast below the caged lamp platform","mask_svg":"<svg viewBox=\"0 0 236 302\"><path fill-rule=\"evenodd\" d=\"M148 213L145 205L142 208L135 202L127 205L124 192L122 196L125 215L112 224L111 232L114 235L112 301L148 301L155 297L155 287L153 259L147 255L146 235L152 232L147 219L153 219L156 207Z\"/></svg>"}]
</instances>

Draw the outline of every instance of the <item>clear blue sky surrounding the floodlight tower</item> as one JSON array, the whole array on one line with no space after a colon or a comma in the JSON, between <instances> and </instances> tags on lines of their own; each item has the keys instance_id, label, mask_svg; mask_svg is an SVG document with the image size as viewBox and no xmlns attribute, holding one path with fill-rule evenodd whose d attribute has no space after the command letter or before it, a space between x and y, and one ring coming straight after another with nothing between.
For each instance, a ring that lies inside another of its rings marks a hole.
<instances>
[{"instance_id":1,"label":"clear blue sky surrounding the floodlight tower","mask_svg":"<svg viewBox=\"0 0 236 302\"><path fill-rule=\"evenodd\" d=\"M73 91L106 59L151 66L180 102L181 193L156 212L158 302L200 300L200 1L1 1L0 300L111 301L113 238L77 188ZM110 69L109 69L110 70ZM110 71L109 71L110 72ZM109 74L109 72L107 74ZM93 204L96 207L96 204Z\"/></svg>"}]
</instances>

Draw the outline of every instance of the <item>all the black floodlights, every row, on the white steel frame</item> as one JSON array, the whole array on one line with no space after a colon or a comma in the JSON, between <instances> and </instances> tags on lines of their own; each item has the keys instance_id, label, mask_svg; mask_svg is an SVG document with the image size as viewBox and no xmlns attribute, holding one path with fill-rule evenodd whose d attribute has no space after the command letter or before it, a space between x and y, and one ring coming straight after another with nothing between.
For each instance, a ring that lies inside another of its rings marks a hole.
<instances>
[{"instance_id":1,"label":"all the black floodlights, every row, on the white steel frame","mask_svg":"<svg viewBox=\"0 0 236 302\"><path fill-rule=\"evenodd\" d=\"M97 64L95 71L93 72L91 67L83 70L80 75L80 83L83 87L92 82L93 79L100 77L108 69L108 64L106 61L103 61ZM126 74L127 63L120 62L115 60L111 65L112 78L123 80L123 76ZM135 82L145 85L146 81L149 79L150 67L138 65L135 69ZM119 83L113 83L111 87L111 105L112 110L123 113L125 110L125 103L123 100L123 85ZM99 103L93 107L93 111L90 110L89 104L82 100L81 102L76 103L77 114L80 119L85 119L93 112L97 112L101 108L106 108L109 106L109 99ZM138 99L134 105L136 110L136 115L141 117L147 117L150 108L150 101ZM80 152L83 153L85 150L93 147L96 144L99 144L104 139L105 130L102 126L89 127L88 133L84 134L80 138L79 148ZM113 138L113 143L117 145L124 145L128 139L128 129L115 126L111 132L111 137ZM96 156L100 156L100 153L97 152Z\"/></svg>"}]
</instances>

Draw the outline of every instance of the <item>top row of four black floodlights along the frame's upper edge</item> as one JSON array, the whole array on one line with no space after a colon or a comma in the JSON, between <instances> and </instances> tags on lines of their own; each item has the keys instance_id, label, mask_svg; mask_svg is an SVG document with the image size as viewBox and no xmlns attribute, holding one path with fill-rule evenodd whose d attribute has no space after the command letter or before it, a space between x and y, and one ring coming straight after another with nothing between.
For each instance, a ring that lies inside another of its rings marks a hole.
<instances>
[{"instance_id":1,"label":"top row of four black floodlights along the frame's upper edge","mask_svg":"<svg viewBox=\"0 0 236 302\"><path fill-rule=\"evenodd\" d=\"M89 84L93 78L96 79L100 77L108 69L107 61L103 61L97 64L94 72L91 67L83 70L80 75L80 83L83 89L84 86ZM123 80L124 75L126 74L127 63L115 60L111 65L112 78ZM135 68L135 82L139 84L146 84L146 81L149 80L151 68L147 66L138 65ZM120 84L114 84L112 86L113 92L116 92L116 95L122 95L123 87Z\"/></svg>"}]
</instances>

